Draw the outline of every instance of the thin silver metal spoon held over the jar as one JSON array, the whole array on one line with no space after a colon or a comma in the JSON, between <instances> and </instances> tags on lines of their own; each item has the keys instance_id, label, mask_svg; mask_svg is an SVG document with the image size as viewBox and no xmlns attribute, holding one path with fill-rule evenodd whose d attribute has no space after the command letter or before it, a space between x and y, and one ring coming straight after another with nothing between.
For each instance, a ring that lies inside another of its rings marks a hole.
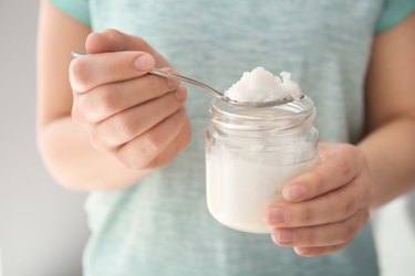
<instances>
[{"instance_id":1,"label":"thin silver metal spoon held over the jar","mask_svg":"<svg viewBox=\"0 0 415 276\"><path fill-rule=\"evenodd\" d=\"M76 59L76 57L83 56L83 55L87 55L87 53L80 53L80 52L72 52L71 54L72 54L73 59ZM224 93L210 87L207 84L204 84L199 81L193 79L193 78L187 77L187 76L174 74L174 73L166 72L166 71L163 71L163 70L159 70L159 68L153 68L148 73L157 75L157 76L162 76L162 77L179 79L179 81L196 85L200 88L204 88L205 91L208 91L215 97L220 98L220 99L222 99L222 100L225 100L229 104L232 104L235 106L240 106L240 107L253 107L253 108L256 108L256 107L271 107L271 106L284 105L284 104L288 104L288 103L291 103L291 102L294 100L293 97L287 96L287 97L278 98L276 100L267 100L267 102L239 102L239 100L230 99L228 96L224 95Z\"/></svg>"}]
</instances>

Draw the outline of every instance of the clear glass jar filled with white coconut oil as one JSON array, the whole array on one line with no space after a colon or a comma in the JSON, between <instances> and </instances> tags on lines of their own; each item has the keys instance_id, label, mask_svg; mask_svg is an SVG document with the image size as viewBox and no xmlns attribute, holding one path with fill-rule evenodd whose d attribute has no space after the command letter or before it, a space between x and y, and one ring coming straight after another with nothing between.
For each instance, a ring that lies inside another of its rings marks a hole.
<instances>
[{"instance_id":1,"label":"clear glass jar filled with white coconut oil","mask_svg":"<svg viewBox=\"0 0 415 276\"><path fill-rule=\"evenodd\" d=\"M315 107L309 97L290 104L243 108L214 99L206 132L207 204L220 223L270 233L268 206L281 189L318 162Z\"/></svg>"}]
</instances>

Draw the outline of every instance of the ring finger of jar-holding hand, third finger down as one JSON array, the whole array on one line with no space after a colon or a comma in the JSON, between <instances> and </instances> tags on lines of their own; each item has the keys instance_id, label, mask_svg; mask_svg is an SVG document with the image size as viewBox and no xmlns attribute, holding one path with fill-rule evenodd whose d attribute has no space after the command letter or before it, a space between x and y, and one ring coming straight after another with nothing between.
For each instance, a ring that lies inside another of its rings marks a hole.
<instances>
[{"instance_id":1,"label":"ring finger of jar-holding hand, third finger down","mask_svg":"<svg viewBox=\"0 0 415 276\"><path fill-rule=\"evenodd\" d=\"M369 211L360 210L353 216L336 223L310 227L273 229L272 241L280 246L320 247L349 243L364 227Z\"/></svg>"}]
</instances>

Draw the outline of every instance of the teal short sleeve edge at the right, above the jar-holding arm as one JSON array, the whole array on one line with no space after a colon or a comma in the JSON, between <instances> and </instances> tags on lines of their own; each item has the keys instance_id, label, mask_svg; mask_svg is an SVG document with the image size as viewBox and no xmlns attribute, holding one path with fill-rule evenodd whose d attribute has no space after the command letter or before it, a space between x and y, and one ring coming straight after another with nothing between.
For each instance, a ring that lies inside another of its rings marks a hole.
<instances>
[{"instance_id":1,"label":"teal short sleeve edge at the right, above the jar-holding arm","mask_svg":"<svg viewBox=\"0 0 415 276\"><path fill-rule=\"evenodd\" d=\"M385 0L375 33L380 34L404 21L415 11L415 0Z\"/></svg>"}]
</instances>

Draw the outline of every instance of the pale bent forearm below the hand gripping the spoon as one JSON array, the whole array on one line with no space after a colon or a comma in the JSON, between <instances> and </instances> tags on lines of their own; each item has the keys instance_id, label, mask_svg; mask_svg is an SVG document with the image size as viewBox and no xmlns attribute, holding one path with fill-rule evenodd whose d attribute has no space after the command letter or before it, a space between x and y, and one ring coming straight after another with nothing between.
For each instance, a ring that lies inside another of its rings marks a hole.
<instances>
[{"instance_id":1,"label":"pale bent forearm below the hand gripping the spoon","mask_svg":"<svg viewBox=\"0 0 415 276\"><path fill-rule=\"evenodd\" d=\"M39 130L39 147L49 171L71 190L114 190L128 187L149 173L129 170L96 150L87 132L71 117L55 119Z\"/></svg>"}]
</instances>

